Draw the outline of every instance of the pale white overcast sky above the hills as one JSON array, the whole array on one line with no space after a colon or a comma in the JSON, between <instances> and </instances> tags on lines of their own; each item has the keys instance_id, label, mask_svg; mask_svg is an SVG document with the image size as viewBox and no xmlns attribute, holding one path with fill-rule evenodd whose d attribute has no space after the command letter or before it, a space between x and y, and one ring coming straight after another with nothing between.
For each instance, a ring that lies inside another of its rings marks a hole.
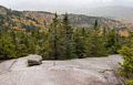
<instances>
[{"instance_id":1,"label":"pale white overcast sky above the hills","mask_svg":"<svg viewBox=\"0 0 133 85\"><path fill-rule=\"evenodd\" d=\"M106 6L133 7L133 0L0 0L0 6L14 10L76 12Z\"/></svg>"}]
</instances>

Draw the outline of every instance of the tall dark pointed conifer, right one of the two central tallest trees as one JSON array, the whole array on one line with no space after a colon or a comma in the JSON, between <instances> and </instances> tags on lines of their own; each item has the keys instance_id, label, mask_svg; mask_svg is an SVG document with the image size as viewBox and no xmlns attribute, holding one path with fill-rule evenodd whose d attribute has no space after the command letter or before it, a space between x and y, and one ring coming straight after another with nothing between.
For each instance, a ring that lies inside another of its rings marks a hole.
<instances>
[{"instance_id":1,"label":"tall dark pointed conifer, right one of the two central tallest trees","mask_svg":"<svg viewBox=\"0 0 133 85\"><path fill-rule=\"evenodd\" d=\"M74 56L74 49L73 49L73 42L72 42L72 32L73 29L70 25L68 14L64 14L63 21L62 21L62 29L64 30L64 47L65 47L65 54L64 59L72 59Z\"/></svg>"}]
</instances>

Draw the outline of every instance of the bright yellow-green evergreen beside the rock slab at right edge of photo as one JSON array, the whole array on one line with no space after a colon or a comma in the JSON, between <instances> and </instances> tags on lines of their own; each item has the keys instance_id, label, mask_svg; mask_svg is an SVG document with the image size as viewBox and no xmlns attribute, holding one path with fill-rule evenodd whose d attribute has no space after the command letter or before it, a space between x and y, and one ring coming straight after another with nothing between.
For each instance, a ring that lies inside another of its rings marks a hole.
<instances>
[{"instance_id":1,"label":"bright yellow-green evergreen beside the rock slab at right edge of photo","mask_svg":"<svg viewBox=\"0 0 133 85\"><path fill-rule=\"evenodd\" d=\"M124 76L127 81L125 81L126 85L133 85L133 34L131 32L130 36L126 39L126 44L119 51L124 59L122 65L122 76Z\"/></svg>"}]
</instances>

